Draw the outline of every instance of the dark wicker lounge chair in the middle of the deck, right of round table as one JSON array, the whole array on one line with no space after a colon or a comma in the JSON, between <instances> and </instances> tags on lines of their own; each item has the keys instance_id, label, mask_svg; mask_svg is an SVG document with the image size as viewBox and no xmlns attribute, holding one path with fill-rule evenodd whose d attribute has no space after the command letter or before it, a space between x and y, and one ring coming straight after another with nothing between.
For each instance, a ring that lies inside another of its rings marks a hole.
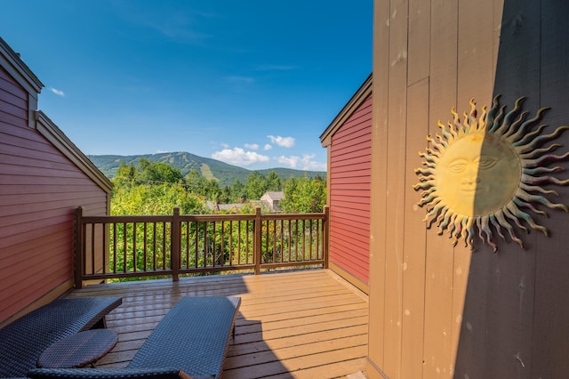
<instances>
[{"instance_id":1,"label":"dark wicker lounge chair in the middle of the deck, right of round table","mask_svg":"<svg viewBox=\"0 0 569 379\"><path fill-rule=\"evenodd\" d=\"M158 323L124 369L44 369L48 378L220 378L234 331L239 297L184 297Z\"/></svg>"}]
</instances>

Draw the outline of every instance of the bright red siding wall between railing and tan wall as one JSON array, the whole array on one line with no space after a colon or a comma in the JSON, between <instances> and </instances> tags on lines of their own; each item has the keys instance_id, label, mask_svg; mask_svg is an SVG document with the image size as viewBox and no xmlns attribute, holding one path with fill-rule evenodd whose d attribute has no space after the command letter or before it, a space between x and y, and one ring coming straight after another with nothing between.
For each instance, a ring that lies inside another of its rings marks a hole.
<instances>
[{"instance_id":1,"label":"bright red siding wall between railing and tan wall","mask_svg":"<svg viewBox=\"0 0 569 379\"><path fill-rule=\"evenodd\" d=\"M330 262L369 283L372 95L332 136Z\"/></svg>"}]
</instances>

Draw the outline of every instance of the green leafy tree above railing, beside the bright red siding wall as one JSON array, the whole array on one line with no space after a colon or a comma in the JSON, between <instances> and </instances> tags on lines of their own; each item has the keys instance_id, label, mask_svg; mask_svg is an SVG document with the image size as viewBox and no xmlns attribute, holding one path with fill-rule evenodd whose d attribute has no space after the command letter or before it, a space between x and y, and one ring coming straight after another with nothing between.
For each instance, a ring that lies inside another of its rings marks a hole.
<instances>
[{"instance_id":1,"label":"green leafy tree above railing, beside the bright red siding wall","mask_svg":"<svg viewBox=\"0 0 569 379\"><path fill-rule=\"evenodd\" d=\"M291 178L284 185L279 205L288 214L320 213L326 205L326 181L319 176Z\"/></svg>"}]
</instances>

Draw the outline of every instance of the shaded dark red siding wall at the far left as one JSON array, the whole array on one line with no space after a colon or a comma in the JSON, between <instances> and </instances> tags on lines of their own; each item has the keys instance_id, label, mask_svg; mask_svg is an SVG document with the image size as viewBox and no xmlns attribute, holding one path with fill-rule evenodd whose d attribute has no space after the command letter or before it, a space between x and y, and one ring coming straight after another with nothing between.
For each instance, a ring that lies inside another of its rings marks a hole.
<instances>
[{"instance_id":1,"label":"shaded dark red siding wall at the far left","mask_svg":"<svg viewBox=\"0 0 569 379\"><path fill-rule=\"evenodd\" d=\"M28 93L0 67L0 322L73 277L73 211L107 193L28 126Z\"/></svg>"}]
</instances>

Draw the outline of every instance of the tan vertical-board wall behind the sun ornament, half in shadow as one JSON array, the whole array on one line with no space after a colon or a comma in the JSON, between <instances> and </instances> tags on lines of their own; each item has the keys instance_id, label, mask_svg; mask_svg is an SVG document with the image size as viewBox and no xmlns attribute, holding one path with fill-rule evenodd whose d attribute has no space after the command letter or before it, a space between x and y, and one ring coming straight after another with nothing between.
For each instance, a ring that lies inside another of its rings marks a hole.
<instances>
[{"instance_id":1,"label":"tan vertical-board wall behind the sun ornament, half in shadow","mask_svg":"<svg viewBox=\"0 0 569 379\"><path fill-rule=\"evenodd\" d=\"M471 98L551 107L544 133L569 123L567 18L569 4L545 0L374 2L370 378L569 372L568 214L544 207L549 237L520 233L525 249L496 236L496 254L477 241L470 251L426 229L413 189L426 136ZM556 142L567 151L569 135Z\"/></svg>"}]
</instances>

